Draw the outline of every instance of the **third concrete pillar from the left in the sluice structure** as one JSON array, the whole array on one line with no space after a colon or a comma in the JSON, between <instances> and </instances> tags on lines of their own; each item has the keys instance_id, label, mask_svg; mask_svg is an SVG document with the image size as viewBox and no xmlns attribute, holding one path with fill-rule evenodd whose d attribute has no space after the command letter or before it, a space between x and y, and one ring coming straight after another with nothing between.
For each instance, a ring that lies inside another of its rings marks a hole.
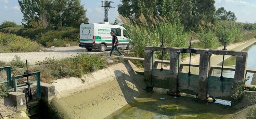
<instances>
[{"instance_id":1,"label":"third concrete pillar from the left in the sluice structure","mask_svg":"<svg viewBox=\"0 0 256 119\"><path fill-rule=\"evenodd\" d=\"M204 100L204 101L207 100L209 59L210 59L209 54L200 54L198 97L200 100Z\"/></svg>"}]
</instances>

